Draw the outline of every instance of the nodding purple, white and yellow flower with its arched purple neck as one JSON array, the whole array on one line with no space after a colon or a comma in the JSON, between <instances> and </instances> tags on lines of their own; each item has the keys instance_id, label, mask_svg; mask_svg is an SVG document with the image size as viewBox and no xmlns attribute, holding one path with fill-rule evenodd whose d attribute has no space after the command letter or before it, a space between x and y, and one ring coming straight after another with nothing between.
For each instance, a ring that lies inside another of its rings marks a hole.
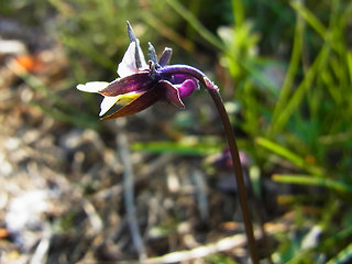
<instances>
[{"instance_id":1,"label":"nodding purple, white and yellow flower with its arched purple neck","mask_svg":"<svg viewBox=\"0 0 352 264\"><path fill-rule=\"evenodd\" d=\"M139 40L129 22L128 31L131 43L118 66L120 78L111 82L90 81L78 85L77 89L98 92L105 97L100 105L100 117L116 103L122 106L114 113L101 118L102 120L134 114L160 100L185 108L182 98L198 89L199 80L205 84L205 75L187 65L167 65L172 56L172 50L167 47L157 61L151 43L148 43L150 61L146 64Z\"/></svg>"}]
</instances>

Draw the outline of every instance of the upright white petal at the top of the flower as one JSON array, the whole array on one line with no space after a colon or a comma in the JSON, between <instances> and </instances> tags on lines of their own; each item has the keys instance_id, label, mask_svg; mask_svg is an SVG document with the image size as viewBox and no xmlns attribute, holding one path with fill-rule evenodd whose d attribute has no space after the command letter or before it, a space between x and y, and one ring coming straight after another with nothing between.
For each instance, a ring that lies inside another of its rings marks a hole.
<instances>
[{"instance_id":1,"label":"upright white petal at the top of the flower","mask_svg":"<svg viewBox=\"0 0 352 264\"><path fill-rule=\"evenodd\" d=\"M139 54L141 58L142 69L147 68L142 50L139 45ZM124 53L122 62L119 64L118 74L121 78L136 74L139 72L135 63L135 42L131 42L128 51Z\"/></svg>"}]
</instances>

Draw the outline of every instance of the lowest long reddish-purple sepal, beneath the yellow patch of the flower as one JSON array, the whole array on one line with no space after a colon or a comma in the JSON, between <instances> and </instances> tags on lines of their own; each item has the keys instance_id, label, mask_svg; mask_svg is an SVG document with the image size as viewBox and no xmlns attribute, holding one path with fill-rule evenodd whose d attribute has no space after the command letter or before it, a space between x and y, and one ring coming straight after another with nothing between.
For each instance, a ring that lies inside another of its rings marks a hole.
<instances>
[{"instance_id":1,"label":"lowest long reddish-purple sepal, beneath the yellow patch of the flower","mask_svg":"<svg viewBox=\"0 0 352 264\"><path fill-rule=\"evenodd\" d=\"M120 108L114 113L111 113L110 116L101 118L101 120L117 119L117 118L127 117L127 116L141 112L144 109L154 105L156 101L158 101L162 98L162 96L163 94L160 92L157 86L155 86L154 88L145 91L144 94L142 94L142 96L134 99L127 106Z\"/></svg>"}]
</instances>

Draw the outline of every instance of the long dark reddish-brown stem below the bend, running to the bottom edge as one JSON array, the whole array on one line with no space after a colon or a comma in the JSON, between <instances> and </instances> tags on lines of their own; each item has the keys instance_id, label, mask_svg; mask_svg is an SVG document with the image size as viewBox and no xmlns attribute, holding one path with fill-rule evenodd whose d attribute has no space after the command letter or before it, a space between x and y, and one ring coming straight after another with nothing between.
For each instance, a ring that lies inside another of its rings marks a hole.
<instances>
[{"instance_id":1,"label":"long dark reddish-brown stem below the bend, running to the bottom edge","mask_svg":"<svg viewBox=\"0 0 352 264\"><path fill-rule=\"evenodd\" d=\"M234 167L234 176L238 184L240 205L241 205L241 210L243 215L245 233L249 241L249 250L250 250L252 263L258 264L260 260L258 260L258 254L256 250L253 226L252 226L252 220L251 220L249 204L248 204L248 196L245 191L244 178L242 173L242 165L240 161L238 145L235 143L234 133L218 89L212 89L211 87L207 87L207 88L218 109L218 112L220 114L220 118L224 128L226 135L228 138L228 143L229 143L233 167Z\"/></svg>"}]
</instances>

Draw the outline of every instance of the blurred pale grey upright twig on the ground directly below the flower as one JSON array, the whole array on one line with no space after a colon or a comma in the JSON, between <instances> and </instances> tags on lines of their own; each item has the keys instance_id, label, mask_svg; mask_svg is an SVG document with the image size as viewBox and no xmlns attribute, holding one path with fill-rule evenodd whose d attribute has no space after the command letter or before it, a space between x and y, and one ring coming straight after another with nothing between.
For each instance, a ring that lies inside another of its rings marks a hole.
<instances>
[{"instance_id":1,"label":"blurred pale grey upright twig on the ground directly below the flower","mask_svg":"<svg viewBox=\"0 0 352 264\"><path fill-rule=\"evenodd\" d=\"M133 170L130 158L128 138L124 132L125 119L118 119L118 135L117 142L119 146L119 153L121 156L121 162L123 164L123 195L125 210L128 215L128 222L131 231L131 237L133 244L139 253L139 258L141 262L146 258L145 249L140 233L140 228L135 218L135 207L134 207L134 180Z\"/></svg>"}]
</instances>

